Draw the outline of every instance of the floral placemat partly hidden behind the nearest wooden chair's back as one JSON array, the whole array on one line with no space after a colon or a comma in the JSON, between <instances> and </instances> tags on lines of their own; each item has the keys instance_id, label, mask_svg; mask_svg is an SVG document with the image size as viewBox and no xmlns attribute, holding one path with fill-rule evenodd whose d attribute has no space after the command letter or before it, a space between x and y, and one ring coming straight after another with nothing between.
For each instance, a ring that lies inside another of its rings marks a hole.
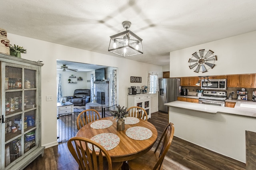
<instances>
[{"instance_id":1,"label":"floral placemat partly hidden behind the nearest wooden chair's back","mask_svg":"<svg viewBox=\"0 0 256 170\"><path fill-rule=\"evenodd\" d=\"M120 138L114 133L101 133L93 136L90 139L101 144L106 150L115 148L120 142ZM92 144L88 144L88 147L90 150L92 150ZM94 146L94 150L96 152L100 151L100 149L96 146Z\"/></svg>"}]
</instances>

